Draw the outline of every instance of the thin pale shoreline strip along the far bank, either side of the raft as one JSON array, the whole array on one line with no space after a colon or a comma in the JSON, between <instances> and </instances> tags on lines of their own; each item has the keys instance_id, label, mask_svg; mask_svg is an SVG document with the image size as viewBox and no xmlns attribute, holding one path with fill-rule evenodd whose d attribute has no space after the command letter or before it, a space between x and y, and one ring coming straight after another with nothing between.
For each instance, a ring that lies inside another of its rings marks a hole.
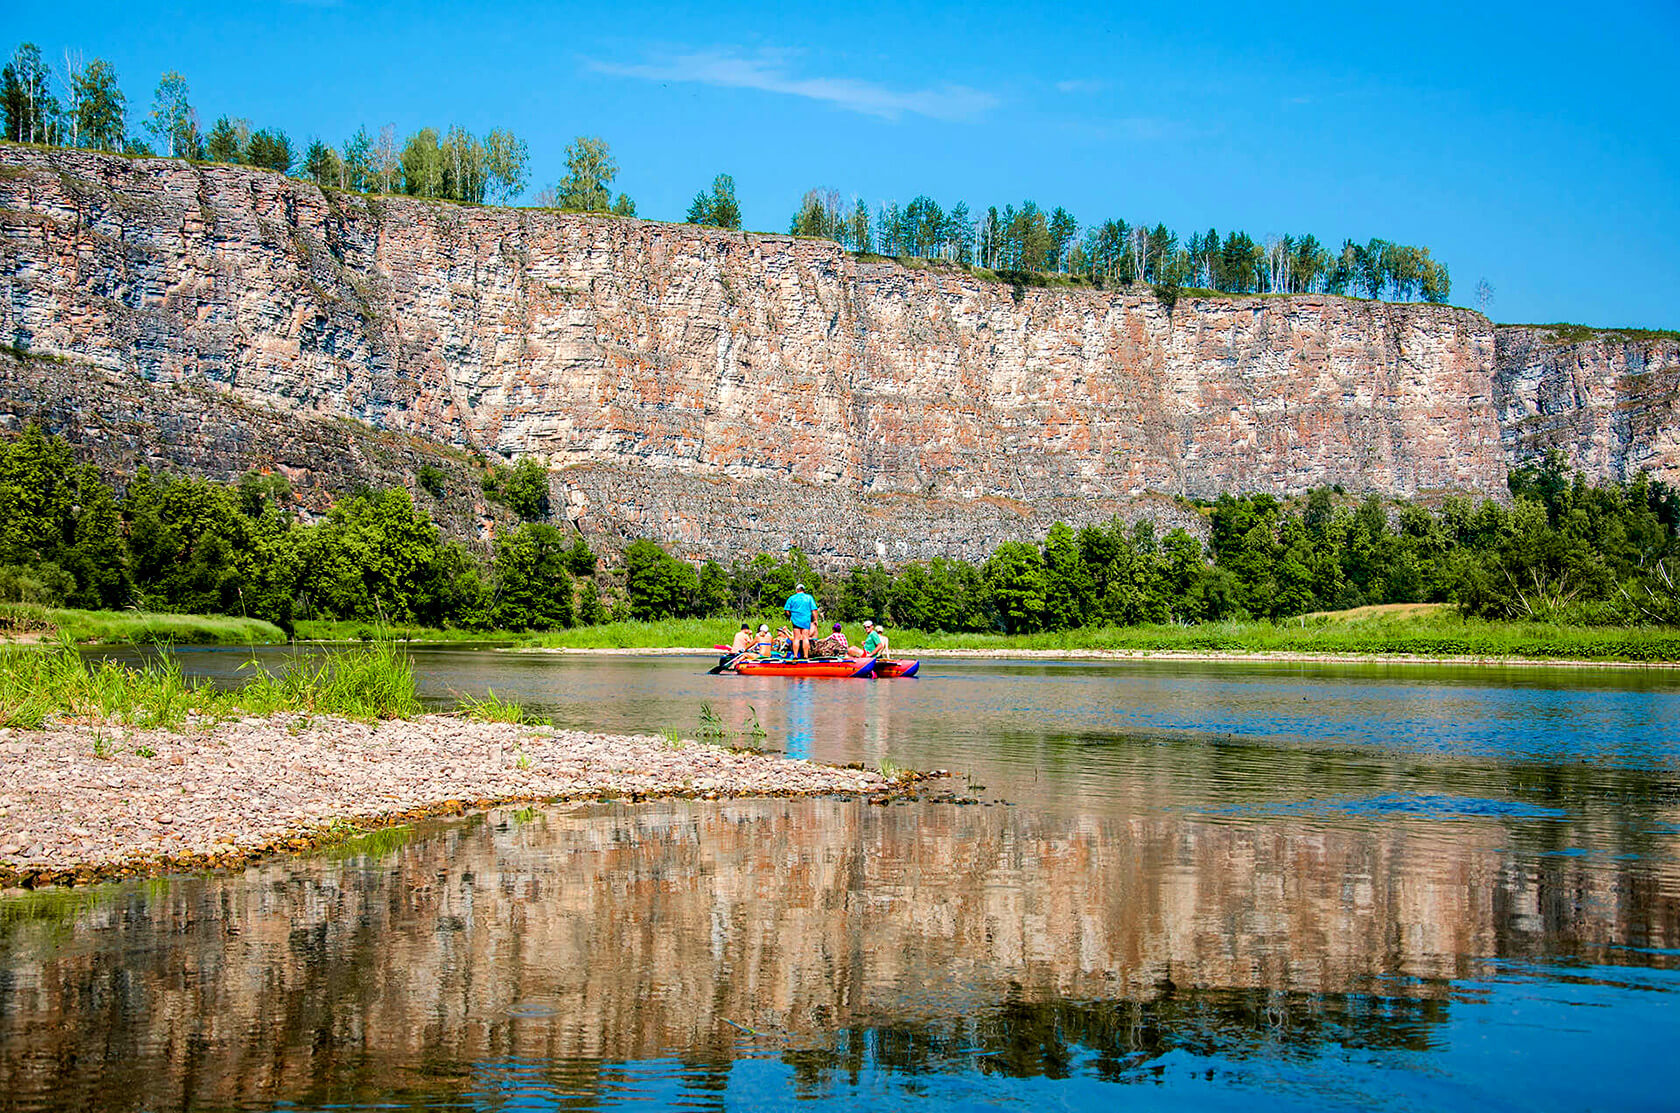
<instances>
[{"instance_id":1,"label":"thin pale shoreline strip along the far bank, either side of the raft","mask_svg":"<svg viewBox=\"0 0 1680 1113\"><path fill-rule=\"evenodd\" d=\"M590 657L711 657L717 649L672 649L665 646L638 649L571 649L506 647L502 652L554 652ZM1680 661L1574 661L1567 657L1423 657L1410 654L1356 652L1223 652L1186 649L895 649L894 657L983 659L983 661L1231 661L1248 664L1475 664L1515 669L1680 669Z\"/></svg>"}]
</instances>

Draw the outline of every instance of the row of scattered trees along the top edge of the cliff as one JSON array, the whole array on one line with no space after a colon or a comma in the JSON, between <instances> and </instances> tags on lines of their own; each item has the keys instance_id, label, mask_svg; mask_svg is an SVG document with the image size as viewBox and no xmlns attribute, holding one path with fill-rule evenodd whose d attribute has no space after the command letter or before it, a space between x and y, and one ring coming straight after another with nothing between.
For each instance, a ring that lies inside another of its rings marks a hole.
<instances>
[{"instance_id":1,"label":"row of scattered trees along the top edge of the cliff","mask_svg":"<svg viewBox=\"0 0 1680 1113\"><path fill-rule=\"evenodd\" d=\"M304 150L284 129L257 128L239 116L218 116L203 129L186 79L178 72L160 79L141 121L144 135L129 135L128 101L109 62L84 62L66 52L62 66L49 66L34 44L18 47L0 71L0 104L5 135L18 143L264 166L341 190L470 203L507 203L529 185L526 141L502 128L484 136L459 124L442 131L420 128L402 140L393 126L378 133L358 128L341 146L311 140ZM606 141L580 136L566 148L566 175L541 190L536 203L633 217L635 202L613 193L617 175L618 163ZM743 227L734 178L717 175L711 188L694 197L685 219ZM944 208L931 197L916 197L906 205L885 202L872 210L857 197L843 202L835 190L810 190L790 232L833 239L860 254L983 267L1021 284L1040 284L1045 276L1104 287L1147 282L1169 304L1181 289L1426 303L1445 303L1452 293L1445 264L1428 247L1371 239L1331 249L1314 235L1255 239L1218 229L1181 235L1164 224L1149 227L1121 219L1080 225L1067 208L1045 210L1032 200L971 212L964 202Z\"/></svg>"}]
</instances>

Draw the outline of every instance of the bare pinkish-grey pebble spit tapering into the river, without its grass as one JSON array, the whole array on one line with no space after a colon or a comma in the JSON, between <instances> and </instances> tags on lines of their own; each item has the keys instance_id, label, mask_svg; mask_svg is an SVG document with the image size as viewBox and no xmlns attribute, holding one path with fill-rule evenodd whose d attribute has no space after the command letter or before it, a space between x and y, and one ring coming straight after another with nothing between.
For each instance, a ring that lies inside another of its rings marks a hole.
<instances>
[{"instance_id":1,"label":"bare pinkish-grey pebble spit tapering into the river, without its grass","mask_svg":"<svg viewBox=\"0 0 1680 1113\"><path fill-rule=\"evenodd\" d=\"M239 866L423 815L519 800L858 794L862 768L664 738L326 716L180 731L0 728L0 888Z\"/></svg>"}]
</instances>

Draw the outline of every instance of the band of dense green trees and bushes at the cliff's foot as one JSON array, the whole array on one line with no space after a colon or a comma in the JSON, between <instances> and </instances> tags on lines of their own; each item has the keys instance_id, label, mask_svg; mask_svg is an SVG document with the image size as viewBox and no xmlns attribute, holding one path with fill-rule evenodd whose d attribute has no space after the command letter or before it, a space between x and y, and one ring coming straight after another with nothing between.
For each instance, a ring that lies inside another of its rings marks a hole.
<instances>
[{"instance_id":1,"label":"band of dense green trees and bushes at the cliff's foot","mask_svg":"<svg viewBox=\"0 0 1680 1113\"><path fill-rule=\"evenodd\" d=\"M417 486L437 494L440 472ZM1562 456L1512 472L1510 501L1438 509L1320 488L1297 499L1221 496L1188 509L1206 541L1147 520L1057 523L984 560L880 563L820 575L798 550L722 567L632 541L601 572L551 525L548 479L524 461L484 489L522 521L487 550L442 535L402 488L339 498L318 521L282 477L237 483L141 469L118 493L37 427L0 449L0 602L250 615L385 619L543 630L608 617L776 614L796 582L825 614L922 630L1026 634L1100 625L1289 619L1366 604L1450 602L1494 619L1680 625L1680 496L1646 477L1588 484Z\"/></svg>"}]
</instances>

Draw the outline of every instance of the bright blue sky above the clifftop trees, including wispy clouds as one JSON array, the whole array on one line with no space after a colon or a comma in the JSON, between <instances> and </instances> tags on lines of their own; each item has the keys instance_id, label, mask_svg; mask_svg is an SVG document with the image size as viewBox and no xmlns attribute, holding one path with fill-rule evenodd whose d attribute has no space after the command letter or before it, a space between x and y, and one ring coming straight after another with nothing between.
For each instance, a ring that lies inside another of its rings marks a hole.
<instances>
[{"instance_id":1,"label":"bright blue sky above the clifftop trees, including wispy clouds","mask_svg":"<svg viewBox=\"0 0 1680 1113\"><path fill-rule=\"evenodd\" d=\"M1147 8L1147 10L1146 10ZM165 69L341 143L460 123L531 145L533 192L606 138L642 215L717 171L746 225L813 187L1065 205L1255 237L1428 245L1499 321L1680 326L1680 5L35 3L7 49ZM138 119L131 124L138 126Z\"/></svg>"}]
</instances>

